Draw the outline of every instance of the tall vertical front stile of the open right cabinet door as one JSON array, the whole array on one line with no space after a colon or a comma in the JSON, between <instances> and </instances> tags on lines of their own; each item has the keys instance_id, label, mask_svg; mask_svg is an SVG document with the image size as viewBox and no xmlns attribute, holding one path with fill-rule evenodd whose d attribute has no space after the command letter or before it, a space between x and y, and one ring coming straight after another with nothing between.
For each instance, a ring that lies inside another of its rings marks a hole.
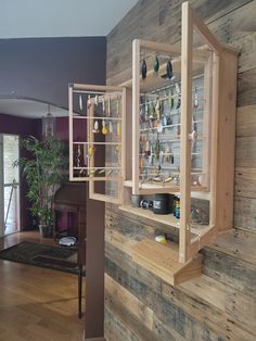
<instances>
[{"instance_id":1,"label":"tall vertical front stile of the open right cabinet door","mask_svg":"<svg viewBox=\"0 0 256 341\"><path fill-rule=\"evenodd\" d=\"M182 4L181 42L181 146L180 146L180 242L179 261L185 263L190 244L191 211L191 90L192 90L192 13L188 2Z\"/></svg>"}]
</instances>

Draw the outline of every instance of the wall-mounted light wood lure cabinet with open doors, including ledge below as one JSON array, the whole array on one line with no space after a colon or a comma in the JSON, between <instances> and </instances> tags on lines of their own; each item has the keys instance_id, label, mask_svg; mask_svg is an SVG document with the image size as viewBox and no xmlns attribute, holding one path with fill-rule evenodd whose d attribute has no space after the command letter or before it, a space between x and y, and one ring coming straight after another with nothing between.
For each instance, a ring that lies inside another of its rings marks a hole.
<instances>
[{"instance_id":1,"label":"wall-mounted light wood lure cabinet with open doors, including ledge below","mask_svg":"<svg viewBox=\"0 0 256 341\"><path fill-rule=\"evenodd\" d=\"M179 229L178 245L133 248L136 262L174 285L197 276L197 252L232 227L236 68L238 52L184 2L181 46L136 39L131 80L69 87L71 179L89 180L91 198ZM80 111L86 103L86 114L74 114L74 101ZM80 119L87 139L74 141Z\"/></svg>"}]
</instances>

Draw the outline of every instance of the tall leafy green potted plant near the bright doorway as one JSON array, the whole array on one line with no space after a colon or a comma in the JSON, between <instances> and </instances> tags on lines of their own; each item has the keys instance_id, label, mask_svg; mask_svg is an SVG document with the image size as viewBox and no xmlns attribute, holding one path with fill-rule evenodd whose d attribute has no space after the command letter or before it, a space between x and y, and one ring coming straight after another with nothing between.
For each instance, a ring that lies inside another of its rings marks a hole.
<instances>
[{"instance_id":1,"label":"tall leafy green potted plant near the bright doorway","mask_svg":"<svg viewBox=\"0 0 256 341\"><path fill-rule=\"evenodd\" d=\"M68 168L66 144L54 137L39 141L34 136L21 141L30 157L21 157L20 165L28 185L27 198L33 217L38 222L43 237L50 237L53 224L54 193L65 180Z\"/></svg>"}]
</instances>

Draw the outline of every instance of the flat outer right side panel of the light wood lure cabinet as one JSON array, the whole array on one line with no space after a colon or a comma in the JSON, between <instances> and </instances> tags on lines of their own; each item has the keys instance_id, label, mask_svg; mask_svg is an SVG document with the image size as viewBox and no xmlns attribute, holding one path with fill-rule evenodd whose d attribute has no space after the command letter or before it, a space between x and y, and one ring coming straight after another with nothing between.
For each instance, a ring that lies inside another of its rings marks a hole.
<instances>
[{"instance_id":1,"label":"flat outer right side panel of the light wood lure cabinet","mask_svg":"<svg viewBox=\"0 0 256 341\"><path fill-rule=\"evenodd\" d=\"M236 113L238 55L221 53L218 113L218 161L216 225L219 230L233 226L234 144ZM223 148L225 147L225 148Z\"/></svg>"}]
</instances>

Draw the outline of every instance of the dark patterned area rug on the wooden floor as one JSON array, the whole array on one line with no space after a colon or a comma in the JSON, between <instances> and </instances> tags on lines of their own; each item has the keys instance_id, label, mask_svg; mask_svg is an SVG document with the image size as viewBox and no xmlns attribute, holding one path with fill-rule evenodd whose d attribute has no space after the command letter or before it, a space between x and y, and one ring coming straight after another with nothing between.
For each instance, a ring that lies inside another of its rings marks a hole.
<instances>
[{"instance_id":1,"label":"dark patterned area rug on the wooden floor","mask_svg":"<svg viewBox=\"0 0 256 341\"><path fill-rule=\"evenodd\" d=\"M0 251L0 258L78 274L77 250L65 247L52 247L25 241Z\"/></svg>"}]
</instances>

